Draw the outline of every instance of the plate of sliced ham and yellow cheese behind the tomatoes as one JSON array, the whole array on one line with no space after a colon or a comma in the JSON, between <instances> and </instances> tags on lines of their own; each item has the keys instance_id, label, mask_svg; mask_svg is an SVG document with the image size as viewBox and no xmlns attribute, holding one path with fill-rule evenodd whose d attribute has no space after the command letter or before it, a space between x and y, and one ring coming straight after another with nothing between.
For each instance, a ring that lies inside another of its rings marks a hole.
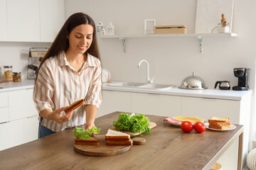
<instances>
[{"instance_id":1,"label":"plate of sliced ham and yellow cheese behind the tomatoes","mask_svg":"<svg viewBox=\"0 0 256 170\"><path fill-rule=\"evenodd\" d=\"M165 118L164 121L166 121L166 123L170 123L171 125L180 127L183 121L190 121L191 123L195 124L197 122L203 123L204 119L198 118L196 116L194 117L176 116L176 117Z\"/></svg>"}]
</instances>

